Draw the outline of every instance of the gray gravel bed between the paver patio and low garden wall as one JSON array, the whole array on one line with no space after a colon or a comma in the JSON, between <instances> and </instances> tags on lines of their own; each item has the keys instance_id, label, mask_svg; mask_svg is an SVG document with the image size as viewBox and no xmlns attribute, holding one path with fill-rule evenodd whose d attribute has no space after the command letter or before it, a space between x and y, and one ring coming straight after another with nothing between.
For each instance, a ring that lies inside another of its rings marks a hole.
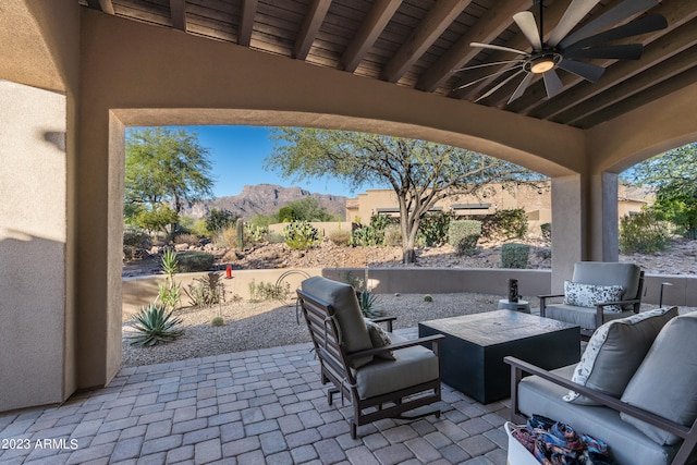
<instances>
[{"instance_id":1,"label":"gray gravel bed between the paver patio and low garden wall","mask_svg":"<svg viewBox=\"0 0 697 465\"><path fill-rule=\"evenodd\" d=\"M394 329L412 328L419 321L477 314L497 308L500 295L433 294L433 302L424 302L424 294L379 294L376 308L398 317ZM538 306L533 298L530 305ZM273 302L225 303L220 307L181 309L184 334L174 342L154 347L134 347L125 342L132 332L131 320L123 323L123 367L152 365L185 358L205 357L278 345L309 342L305 322L297 323L295 306ZM225 320L223 327L211 327L215 317ZM302 317L302 316L301 316Z\"/></svg>"}]
</instances>

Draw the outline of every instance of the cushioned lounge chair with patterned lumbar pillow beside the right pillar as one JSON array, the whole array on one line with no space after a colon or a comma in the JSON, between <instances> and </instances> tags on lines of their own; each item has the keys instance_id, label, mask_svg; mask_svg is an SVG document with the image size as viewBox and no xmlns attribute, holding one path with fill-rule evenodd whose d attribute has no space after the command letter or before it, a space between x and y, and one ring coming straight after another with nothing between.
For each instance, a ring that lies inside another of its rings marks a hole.
<instances>
[{"instance_id":1,"label":"cushioned lounge chair with patterned lumbar pillow beside the right pillar","mask_svg":"<svg viewBox=\"0 0 697 465\"><path fill-rule=\"evenodd\" d=\"M638 314L644 271L633 264L578 261L564 294L538 295L540 316L580 327L589 338L606 321ZM549 303L564 297L563 303Z\"/></svg>"}]
</instances>

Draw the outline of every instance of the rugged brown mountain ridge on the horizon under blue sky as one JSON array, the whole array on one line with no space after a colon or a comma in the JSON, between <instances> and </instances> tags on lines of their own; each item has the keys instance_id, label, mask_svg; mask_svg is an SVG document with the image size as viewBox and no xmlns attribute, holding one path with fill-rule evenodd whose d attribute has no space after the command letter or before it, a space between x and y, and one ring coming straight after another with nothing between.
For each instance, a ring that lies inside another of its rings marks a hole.
<instances>
[{"instance_id":1,"label":"rugged brown mountain ridge on the horizon under blue sky","mask_svg":"<svg viewBox=\"0 0 697 465\"><path fill-rule=\"evenodd\" d=\"M218 208L248 220L257 213L277 213L281 207L290 201L308 197L316 198L330 215L344 218L346 208L346 197L344 196L315 194L297 186L282 187L273 184L245 185L240 195L188 204L182 209L182 215L198 219L204 218L211 209Z\"/></svg>"}]
</instances>

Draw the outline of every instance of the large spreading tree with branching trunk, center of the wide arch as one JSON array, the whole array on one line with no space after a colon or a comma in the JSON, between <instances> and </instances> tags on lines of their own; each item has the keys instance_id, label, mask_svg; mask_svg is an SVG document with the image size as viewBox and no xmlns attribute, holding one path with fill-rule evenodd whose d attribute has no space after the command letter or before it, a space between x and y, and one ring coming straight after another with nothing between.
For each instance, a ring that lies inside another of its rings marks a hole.
<instances>
[{"instance_id":1,"label":"large spreading tree with branching trunk, center of the wide arch","mask_svg":"<svg viewBox=\"0 0 697 465\"><path fill-rule=\"evenodd\" d=\"M421 218L440 199L482 192L492 182L534 179L513 163L457 147L377 134L280 127L266 168L298 180L330 175L353 187L387 183L400 208L403 261L414 262Z\"/></svg>"}]
</instances>

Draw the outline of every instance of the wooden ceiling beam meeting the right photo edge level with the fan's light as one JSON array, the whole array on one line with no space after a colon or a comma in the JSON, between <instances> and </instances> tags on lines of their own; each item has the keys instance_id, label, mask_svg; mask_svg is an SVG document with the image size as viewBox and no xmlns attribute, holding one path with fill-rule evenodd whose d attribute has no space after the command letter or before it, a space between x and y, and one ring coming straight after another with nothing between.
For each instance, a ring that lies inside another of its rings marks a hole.
<instances>
[{"instance_id":1,"label":"wooden ceiling beam meeting the right photo edge level with the fan's light","mask_svg":"<svg viewBox=\"0 0 697 465\"><path fill-rule=\"evenodd\" d=\"M664 60L659 65L646 70L631 78L619 82L609 87L604 93L597 95L591 100L586 100L573 108L570 108L560 118L553 119L559 123L576 125L586 120L589 115L601 112L606 108L612 107L622 100L645 93L651 87L668 81L685 71L694 68L697 62L697 46L692 47L672 58ZM644 105L644 103L641 103Z\"/></svg>"}]
</instances>

